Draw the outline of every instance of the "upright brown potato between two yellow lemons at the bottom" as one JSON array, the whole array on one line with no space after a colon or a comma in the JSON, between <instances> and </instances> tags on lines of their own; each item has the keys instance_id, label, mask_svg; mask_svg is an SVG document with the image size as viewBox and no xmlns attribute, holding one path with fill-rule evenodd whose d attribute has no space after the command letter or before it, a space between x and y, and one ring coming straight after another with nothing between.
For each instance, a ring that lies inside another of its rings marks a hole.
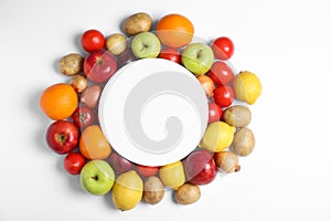
<instances>
[{"instance_id":1,"label":"upright brown potato between two yellow lemons at the bottom","mask_svg":"<svg viewBox=\"0 0 331 221\"><path fill-rule=\"evenodd\" d=\"M164 197L164 187L158 177L148 177L143 183L142 199L149 204L159 203Z\"/></svg>"}]
</instances>

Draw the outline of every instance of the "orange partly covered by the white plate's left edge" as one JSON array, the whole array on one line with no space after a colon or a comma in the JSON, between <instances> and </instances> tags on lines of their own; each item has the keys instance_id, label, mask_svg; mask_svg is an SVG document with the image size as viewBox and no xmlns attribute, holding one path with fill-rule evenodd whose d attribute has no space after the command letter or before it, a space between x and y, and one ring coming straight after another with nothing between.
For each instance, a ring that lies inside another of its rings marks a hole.
<instances>
[{"instance_id":1,"label":"orange partly covered by the white plate's left edge","mask_svg":"<svg viewBox=\"0 0 331 221\"><path fill-rule=\"evenodd\" d=\"M81 135L79 151L87 159L106 159L111 152L111 146L102 128L98 125L90 125Z\"/></svg>"}]
</instances>

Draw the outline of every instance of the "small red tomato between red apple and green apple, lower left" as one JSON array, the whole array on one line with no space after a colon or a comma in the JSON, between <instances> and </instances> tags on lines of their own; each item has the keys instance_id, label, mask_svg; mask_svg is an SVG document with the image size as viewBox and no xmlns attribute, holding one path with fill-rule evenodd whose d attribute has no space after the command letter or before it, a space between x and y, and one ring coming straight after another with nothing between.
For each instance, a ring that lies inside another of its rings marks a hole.
<instances>
[{"instance_id":1,"label":"small red tomato between red apple and green apple, lower left","mask_svg":"<svg viewBox=\"0 0 331 221\"><path fill-rule=\"evenodd\" d=\"M79 175L85 164L86 159L79 152L70 152L63 160L64 169L71 175Z\"/></svg>"}]
</instances>

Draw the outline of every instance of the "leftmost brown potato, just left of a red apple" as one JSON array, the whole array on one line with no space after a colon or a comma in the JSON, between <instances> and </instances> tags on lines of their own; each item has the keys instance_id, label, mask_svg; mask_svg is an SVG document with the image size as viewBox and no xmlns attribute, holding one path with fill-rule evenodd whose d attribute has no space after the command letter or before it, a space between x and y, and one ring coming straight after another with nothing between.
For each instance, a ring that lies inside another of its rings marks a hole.
<instances>
[{"instance_id":1,"label":"leftmost brown potato, just left of a red apple","mask_svg":"<svg viewBox=\"0 0 331 221\"><path fill-rule=\"evenodd\" d=\"M64 75L75 75L83 70L84 57L77 53L71 53L60 60L60 71Z\"/></svg>"}]
</instances>

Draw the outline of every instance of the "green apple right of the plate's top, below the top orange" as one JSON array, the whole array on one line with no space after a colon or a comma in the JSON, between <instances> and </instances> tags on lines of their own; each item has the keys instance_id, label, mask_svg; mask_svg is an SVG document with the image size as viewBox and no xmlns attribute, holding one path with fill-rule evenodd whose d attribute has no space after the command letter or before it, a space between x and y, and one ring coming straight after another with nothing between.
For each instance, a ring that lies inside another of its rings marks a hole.
<instances>
[{"instance_id":1,"label":"green apple right of the plate's top, below the top orange","mask_svg":"<svg viewBox=\"0 0 331 221\"><path fill-rule=\"evenodd\" d=\"M213 50L205 43L192 43L182 52L182 64L195 75L205 74L213 65Z\"/></svg>"}]
</instances>

